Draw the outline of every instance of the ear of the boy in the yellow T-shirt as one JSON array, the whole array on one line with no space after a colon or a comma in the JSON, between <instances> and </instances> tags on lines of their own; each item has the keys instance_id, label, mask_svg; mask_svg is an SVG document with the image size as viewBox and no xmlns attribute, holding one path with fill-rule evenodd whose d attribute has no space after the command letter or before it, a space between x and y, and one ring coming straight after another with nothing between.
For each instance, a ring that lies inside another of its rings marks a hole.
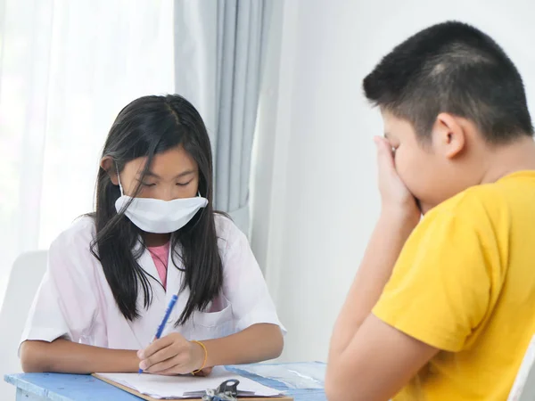
<instances>
[{"instance_id":1,"label":"ear of the boy in the yellow T-shirt","mask_svg":"<svg viewBox=\"0 0 535 401\"><path fill-rule=\"evenodd\" d=\"M453 159L465 149L465 127L456 116L440 113L433 127L433 142L438 151L448 159Z\"/></svg>"}]
</instances>

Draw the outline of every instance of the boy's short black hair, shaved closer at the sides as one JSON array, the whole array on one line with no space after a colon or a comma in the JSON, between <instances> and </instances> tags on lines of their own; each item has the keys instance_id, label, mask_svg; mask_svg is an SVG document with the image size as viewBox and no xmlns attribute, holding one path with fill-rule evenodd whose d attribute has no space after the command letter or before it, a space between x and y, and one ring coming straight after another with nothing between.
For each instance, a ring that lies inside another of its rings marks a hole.
<instances>
[{"instance_id":1,"label":"boy's short black hair, shaved closer at the sides","mask_svg":"<svg viewBox=\"0 0 535 401\"><path fill-rule=\"evenodd\" d=\"M520 73L472 26L448 21L409 37L364 79L366 98L429 137L440 112L472 120L489 143L533 135Z\"/></svg>"}]
</instances>

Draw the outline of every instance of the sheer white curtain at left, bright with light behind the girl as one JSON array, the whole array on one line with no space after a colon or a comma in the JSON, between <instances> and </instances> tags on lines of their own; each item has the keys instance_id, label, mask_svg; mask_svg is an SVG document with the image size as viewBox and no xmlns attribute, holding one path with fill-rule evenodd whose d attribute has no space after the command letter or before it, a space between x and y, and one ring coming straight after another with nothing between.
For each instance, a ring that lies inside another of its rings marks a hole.
<instances>
[{"instance_id":1,"label":"sheer white curtain at left, bright with light behind the girl","mask_svg":"<svg viewBox=\"0 0 535 401\"><path fill-rule=\"evenodd\" d=\"M13 260L93 209L115 116L174 92L172 0L0 0L0 303Z\"/></svg>"}]
</instances>

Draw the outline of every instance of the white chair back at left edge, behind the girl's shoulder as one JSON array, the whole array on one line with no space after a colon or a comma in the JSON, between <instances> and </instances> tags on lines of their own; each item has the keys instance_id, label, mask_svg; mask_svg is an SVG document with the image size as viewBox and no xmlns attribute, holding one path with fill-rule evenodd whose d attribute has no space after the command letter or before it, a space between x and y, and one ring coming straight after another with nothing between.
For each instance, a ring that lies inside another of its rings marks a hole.
<instances>
[{"instance_id":1,"label":"white chair back at left edge, behind the girl's shoulder","mask_svg":"<svg viewBox=\"0 0 535 401\"><path fill-rule=\"evenodd\" d=\"M21 372L17 355L29 307L46 270L45 250L23 253L13 263L0 310L0 395L14 399L15 388L4 381L4 374Z\"/></svg>"}]
</instances>

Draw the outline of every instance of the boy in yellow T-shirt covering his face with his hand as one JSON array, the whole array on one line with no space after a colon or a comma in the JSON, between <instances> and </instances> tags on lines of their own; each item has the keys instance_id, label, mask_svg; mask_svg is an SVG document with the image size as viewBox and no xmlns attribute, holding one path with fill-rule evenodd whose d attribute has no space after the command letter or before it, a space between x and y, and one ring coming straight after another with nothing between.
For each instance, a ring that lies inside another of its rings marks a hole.
<instances>
[{"instance_id":1,"label":"boy in yellow T-shirt covering his face with his hand","mask_svg":"<svg viewBox=\"0 0 535 401\"><path fill-rule=\"evenodd\" d=\"M394 48L363 86L383 114L382 213L334 327L327 397L506 400L535 333L522 78L490 37L446 22Z\"/></svg>"}]
</instances>

